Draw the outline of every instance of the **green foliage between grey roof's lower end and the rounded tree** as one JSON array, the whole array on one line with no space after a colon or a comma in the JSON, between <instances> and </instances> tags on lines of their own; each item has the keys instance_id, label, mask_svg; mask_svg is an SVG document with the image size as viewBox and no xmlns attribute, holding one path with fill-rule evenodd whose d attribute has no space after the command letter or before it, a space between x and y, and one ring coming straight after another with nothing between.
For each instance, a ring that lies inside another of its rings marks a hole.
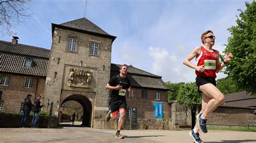
<instances>
[{"instance_id":1,"label":"green foliage between grey roof's lower end and the rounded tree","mask_svg":"<svg viewBox=\"0 0 256 143\"><path fill-rule=\"evenodd\" d=\"M177 93L180 85L185 83L172 83L171 81L165 82L165 85L169 87L171 90L168 92L168 100L174 100L177 97Z\"/></svg>"}]
</instances>

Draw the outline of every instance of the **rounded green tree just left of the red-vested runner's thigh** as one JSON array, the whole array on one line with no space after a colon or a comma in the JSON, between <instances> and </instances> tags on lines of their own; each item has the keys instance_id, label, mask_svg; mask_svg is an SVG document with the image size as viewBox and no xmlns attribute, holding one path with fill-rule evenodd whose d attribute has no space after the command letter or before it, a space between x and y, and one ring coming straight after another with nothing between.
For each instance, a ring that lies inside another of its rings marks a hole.
<instances>
[{"instance_id":1,"label":"rounded green tree just left of the red-vested runner's thigh","mask_svg":"<svg viewBox=\"0 0 256 143\"><path fill-rule=\"evenodd\" d=\"M196 83L186 83L180 85L177 100L185 107L188 105L200 105L201 93L198 92Z\"/></svg>"}]
</instances>

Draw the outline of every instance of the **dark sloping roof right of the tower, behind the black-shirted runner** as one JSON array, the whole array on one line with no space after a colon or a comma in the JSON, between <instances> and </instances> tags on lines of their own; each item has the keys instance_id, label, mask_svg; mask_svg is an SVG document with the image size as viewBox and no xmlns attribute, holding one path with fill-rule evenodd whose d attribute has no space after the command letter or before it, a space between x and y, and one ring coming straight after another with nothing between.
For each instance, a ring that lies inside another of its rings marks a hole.
<instances>
[{"instance_id":1,"label":"dark sloping roof right of the tower, behind the black-shirted runner","mask_svg":"<svg viewBox=\"0 0 256 143\"><path fill-rule=\"evenodd\" d=\"M111 77L119 74L118 64L111 64ZM170 88L165 86L160 76L140 70L133 66L128 66L127 78L131 81L132 87L137 88L154 88L157 90L169 91Z\"/></svg>"}]
</instances>

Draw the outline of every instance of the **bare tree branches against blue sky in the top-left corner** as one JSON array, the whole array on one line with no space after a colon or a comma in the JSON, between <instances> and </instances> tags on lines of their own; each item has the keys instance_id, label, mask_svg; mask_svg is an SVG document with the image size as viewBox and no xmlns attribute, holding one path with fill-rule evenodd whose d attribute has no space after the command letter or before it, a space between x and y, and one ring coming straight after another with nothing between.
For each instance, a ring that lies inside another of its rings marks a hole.
<instances>
[{"instance_id":1,"label":"bare tree branches against blue sky in the top-left corner","mask_svg":"<svg viewBox=\"0 0 256 143\"><path fill-rule=\"evenodd\" d=\"M31 0L0 0L0 29L2 35L12 35L11 28L27 18L27 6Z\"/></svg>"}]
</instances>

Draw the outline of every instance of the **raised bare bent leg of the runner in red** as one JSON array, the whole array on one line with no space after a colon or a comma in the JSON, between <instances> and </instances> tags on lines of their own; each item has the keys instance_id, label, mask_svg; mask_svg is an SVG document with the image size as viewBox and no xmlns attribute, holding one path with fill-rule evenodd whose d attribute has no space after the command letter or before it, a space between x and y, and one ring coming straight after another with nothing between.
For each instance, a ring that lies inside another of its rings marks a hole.
<instances>
[{"instance_id":1,"label":"raised bare bent leg of the runner in red","mask_svg":"<svg viewBox=\"0 0 256 143\"><path fill-rule=\"evenodd\" d=\"M200 86L200 91L203 92L203 97L208 97L208 103L203 112L209 114L215 110L224 101L224 95L221 93L217 87L213 84L204 84ZM207 99L207 98L206 98ZM202 107L203 108L203 107Z\"/></svg>"}]
</instances>

